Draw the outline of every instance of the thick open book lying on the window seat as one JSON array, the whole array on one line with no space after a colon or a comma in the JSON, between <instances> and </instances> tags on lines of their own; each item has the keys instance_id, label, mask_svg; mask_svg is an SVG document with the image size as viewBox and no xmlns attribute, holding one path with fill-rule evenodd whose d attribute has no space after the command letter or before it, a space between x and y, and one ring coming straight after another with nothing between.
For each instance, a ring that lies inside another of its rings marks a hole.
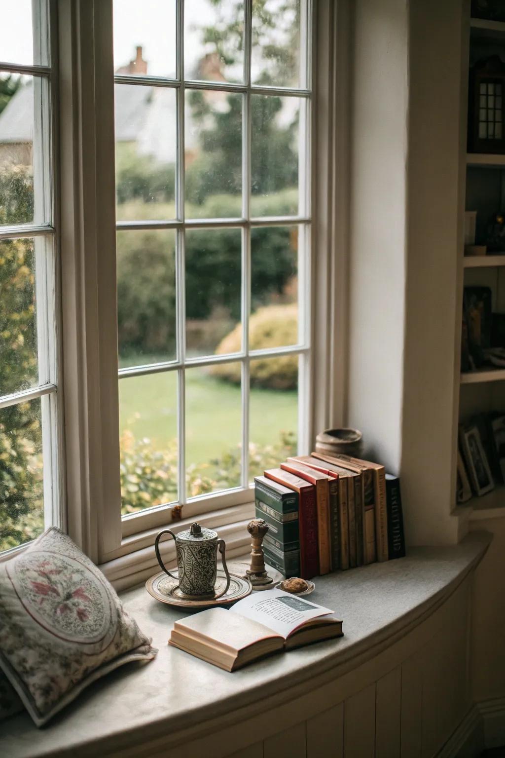
<instances>
[{"instance_id":1,"label":"thick open book lying on the window seat","mask_svg":"<svg viewBox=\"0 0 505 758\"><path fill-rule=\"evenodd\" d=\"M341 637L329 608L282 590L254 592L232 608L210 608L176 621L169 644L226 671L278 650Z\"/></svg>"}]
</instances>

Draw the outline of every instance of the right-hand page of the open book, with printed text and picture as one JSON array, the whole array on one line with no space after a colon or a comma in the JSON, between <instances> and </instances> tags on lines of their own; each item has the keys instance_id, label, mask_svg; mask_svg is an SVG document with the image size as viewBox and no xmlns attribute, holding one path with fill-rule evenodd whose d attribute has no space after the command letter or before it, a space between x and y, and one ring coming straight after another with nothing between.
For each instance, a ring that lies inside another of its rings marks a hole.
<instances>
[{"instance_id":1,"label":"right-hand page of the open book, with printed text and picture","mask_svg":"<svg viewBox=\"0 0 505 758\"><path fill-rule=\"evenodd\" d=\"M267 626L284 638L310 619L333 613L329 608L282 590L253 592L229 609L229 613L233 612Z\"/></svg>"}]
</instances>

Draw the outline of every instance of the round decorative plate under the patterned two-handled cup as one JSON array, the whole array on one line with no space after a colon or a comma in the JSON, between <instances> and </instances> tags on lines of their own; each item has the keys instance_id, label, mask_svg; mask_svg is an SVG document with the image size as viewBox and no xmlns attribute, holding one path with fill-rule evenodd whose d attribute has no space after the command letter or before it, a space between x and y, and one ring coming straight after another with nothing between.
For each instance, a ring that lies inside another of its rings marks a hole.
<instances>
[{"instance_id":1,"label":"round decorative plate under the patterned two-handled cup","mask_svg":"<svg viewBox=\"0 0 505 758\"><path fill-rule=\"evenodd\" d=\"M175 572L174 572L175 573ZM230 572L232 581L229 583L228 592L217 600L213 597L188 597L177 585L179 581L167 576L165 572L160 572L151 576L145 582L145 589L148 593L160 600L161 603L168 603L170 606L179 606L179 608L211 608L213 606L225 606L227 603L235 603L236 600L242 600L251 594L252 584L248 579L242 578L237 574ZM215 584L216 594L219 594L226 587L226 574L218 569Z\"/></svg>"}]
</instances>

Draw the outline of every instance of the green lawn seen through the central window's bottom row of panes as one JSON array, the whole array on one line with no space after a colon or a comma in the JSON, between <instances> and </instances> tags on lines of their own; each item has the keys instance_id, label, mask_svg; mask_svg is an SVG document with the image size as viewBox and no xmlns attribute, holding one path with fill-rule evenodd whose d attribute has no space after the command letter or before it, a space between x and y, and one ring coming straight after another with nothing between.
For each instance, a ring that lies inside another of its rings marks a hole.
<instances>
[{"instance_id":1,"label":"green lawn seen through the central window's bottom row of panes","mask_svg":"<svg viewBox=\"0 0 505 758\"><path fill-rule=\"evenodd\" d=\"M210 377L204 369L185 374L186 459L203 463L240 443L240 388ZM120 381L120 431L148 437L160 449L176 439L176 372ZM296 391L251 390L251 442L279 442L282 431L297 431Z\"/></svg>"}]
</instances>

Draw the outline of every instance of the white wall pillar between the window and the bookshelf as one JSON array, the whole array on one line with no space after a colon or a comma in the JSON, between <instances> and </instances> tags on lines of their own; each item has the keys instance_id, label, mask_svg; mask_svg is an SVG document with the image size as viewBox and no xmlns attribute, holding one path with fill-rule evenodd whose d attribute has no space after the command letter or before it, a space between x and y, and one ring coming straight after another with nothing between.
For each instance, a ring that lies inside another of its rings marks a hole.
<instances>
[{"instance_id":1,"label":"white wall pillar between the window and the bookshelf","mask_svg":"<svg viewBox=\"0 0 505 758\"><path fill-rule=\"evenodd\" d=\"M401 473L410 544L457 540L461 0L357 0L348 423Z\"/></svg>"}]
</instances>

